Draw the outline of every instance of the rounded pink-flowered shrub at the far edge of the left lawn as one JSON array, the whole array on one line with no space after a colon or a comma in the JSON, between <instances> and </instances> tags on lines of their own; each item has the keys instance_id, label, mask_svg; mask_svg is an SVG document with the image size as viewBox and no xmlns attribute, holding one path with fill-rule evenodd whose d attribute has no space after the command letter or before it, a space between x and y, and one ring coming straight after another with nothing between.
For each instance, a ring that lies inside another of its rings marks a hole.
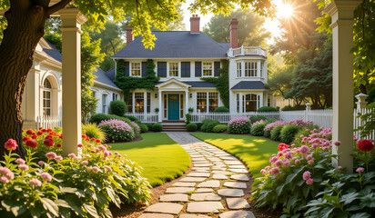
<instances>
[{"instance_id":1,"label":"rounded pink-flowered shrub at the far edge of the left lawn","mask_svg":"<svg viewBox=\"0 0 375 218\"><path fill-rule=\"evenodd\" d=\"M131 141L135 138L133 128L124 121L102 121L100 122L99 127L106 132L106 137L110 141Z\"/></svg>"}]
</instances>

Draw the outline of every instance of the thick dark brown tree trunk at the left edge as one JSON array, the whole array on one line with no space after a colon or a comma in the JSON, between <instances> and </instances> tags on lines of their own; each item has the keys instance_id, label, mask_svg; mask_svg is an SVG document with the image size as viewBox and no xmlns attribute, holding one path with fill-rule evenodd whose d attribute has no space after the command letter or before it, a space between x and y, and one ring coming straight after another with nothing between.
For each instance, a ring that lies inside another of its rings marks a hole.
<instances>
[{"instance_id":1,"label":"thick dark brown tree trunk at the left edge","mask_svg":"<svg viewBox=\"0 0 375 218\"><path fill-rule=\"evenodd\" d=\"M15 152L25 156L22 145L22 94L28 71L34 63L35 47L45 34L48 17L46 5L35 2L10 1L11 7L5 13L8 25L0 45L0 158L4 156L4 144L10 138L19 145Z\"/></svg>"}]
</instances>

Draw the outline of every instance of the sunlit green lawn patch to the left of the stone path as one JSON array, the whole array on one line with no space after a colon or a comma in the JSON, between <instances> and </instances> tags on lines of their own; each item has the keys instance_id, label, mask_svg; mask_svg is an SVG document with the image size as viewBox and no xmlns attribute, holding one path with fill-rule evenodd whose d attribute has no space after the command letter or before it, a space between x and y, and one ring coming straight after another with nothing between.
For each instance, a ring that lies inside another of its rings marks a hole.
<instances>
[{"instance_id":1,"label":"sunlit green lawn patch to the left of the stone path","mask_svg":"<svg viewBox=\"0 0 375 218\"><path fill-rule=\"evenodd\" d=\"M142 176L152 186L170 181L190 166L187 152L167 134L142 134L143 140L134 143L110 144L111 152L127 154L127 157L143 167Z\"/></svg>"}]
</instances>

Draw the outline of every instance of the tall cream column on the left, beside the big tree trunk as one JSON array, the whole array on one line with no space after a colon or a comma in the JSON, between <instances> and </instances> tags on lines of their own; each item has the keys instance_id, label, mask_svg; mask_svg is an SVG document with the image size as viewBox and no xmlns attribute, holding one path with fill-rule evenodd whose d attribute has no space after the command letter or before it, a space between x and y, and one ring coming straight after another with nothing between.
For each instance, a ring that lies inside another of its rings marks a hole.
<instances>
[{"instance_id":1,"label":"tall cream column on the left, beside the big tree trunk","mask_svg":"<svg viewBox=\"0 0 375 218\"><path fill-rule=\"evenodd\" d=\"M87 20L76 8L59 11L63 21L63 154L77 154L81 134L81 25Z\"/></svg>"}]
</instances>

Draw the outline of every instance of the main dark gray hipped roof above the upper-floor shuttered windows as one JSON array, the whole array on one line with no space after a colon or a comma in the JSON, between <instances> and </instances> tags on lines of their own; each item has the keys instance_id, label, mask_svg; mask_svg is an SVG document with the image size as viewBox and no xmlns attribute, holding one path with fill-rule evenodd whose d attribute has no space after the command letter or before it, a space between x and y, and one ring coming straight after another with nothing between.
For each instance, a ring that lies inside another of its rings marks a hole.
<instances>
[{"instance_id":1,"label":"main dark gray hipped roof above the upper-floor shuttered windows","mask_svg":"<svg viewBox=\"0 0 375 218\"><path fill-rule=\"evenodd\" d=\"M190 34L189 31L154 31L157 37L155 47L146 49L142 43L142 36L129 45L125 46L113 57L144 57L144 58L162 58L162 57L227 57L229 44L218 43L203 33Z\"/></svg>"}]
</instances>

